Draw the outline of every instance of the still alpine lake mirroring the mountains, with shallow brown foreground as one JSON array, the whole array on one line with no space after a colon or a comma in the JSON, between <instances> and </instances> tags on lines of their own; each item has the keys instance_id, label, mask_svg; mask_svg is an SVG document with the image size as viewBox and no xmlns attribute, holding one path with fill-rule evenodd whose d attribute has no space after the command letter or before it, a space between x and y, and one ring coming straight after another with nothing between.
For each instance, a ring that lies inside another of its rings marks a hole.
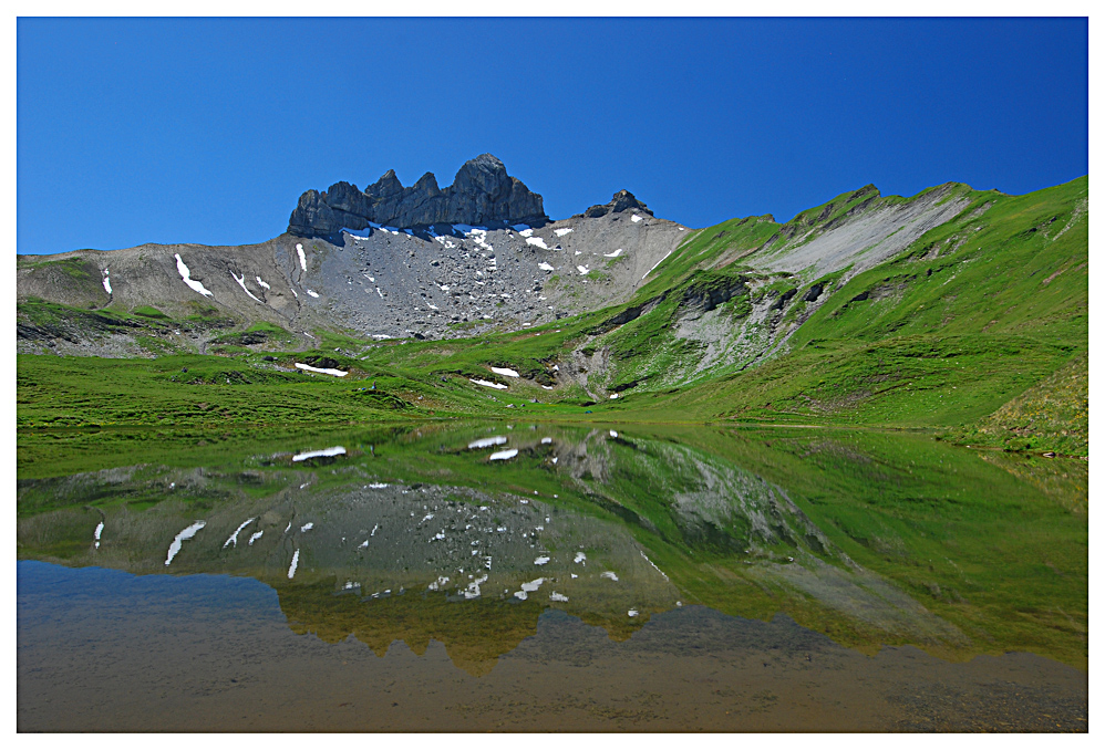
<instances>
[{"instance_id":1,"label":"still alpine lake mirroring the mountains, with shallow brown foreground","mask_svg":"<svg viewBox=\"0 0 1105 750\"><path fill-rule=\"evenodd\" d=\"M1088 465L822 428L18 439L20 731L1088 721Z\"/></svg>"}]
</instances>

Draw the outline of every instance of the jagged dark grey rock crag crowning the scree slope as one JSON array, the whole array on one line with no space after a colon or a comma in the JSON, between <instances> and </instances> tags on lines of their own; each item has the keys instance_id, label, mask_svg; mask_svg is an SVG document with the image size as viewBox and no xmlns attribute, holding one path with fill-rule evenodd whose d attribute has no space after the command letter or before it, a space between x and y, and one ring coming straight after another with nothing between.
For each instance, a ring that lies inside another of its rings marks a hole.
<instances>
[{"instance_id":1,"label":"jagged dark grey rock crag crowning the scree slope","mask_svg":"<svg viewBox=\"0 0 1105 750\"><path fill-rule=\"evenodd\" d=\"M364 229L370 222L405 229L435 223L543 227L548 221L541 197L507 175L502 162L484 154L466 162L453 185L444 189L428 171L405 188L389 169L363 191L344 181L322 194L308 190L291 212L288 231L299 237L332 237L342 228Z\"/></svg>"}]
</instances>

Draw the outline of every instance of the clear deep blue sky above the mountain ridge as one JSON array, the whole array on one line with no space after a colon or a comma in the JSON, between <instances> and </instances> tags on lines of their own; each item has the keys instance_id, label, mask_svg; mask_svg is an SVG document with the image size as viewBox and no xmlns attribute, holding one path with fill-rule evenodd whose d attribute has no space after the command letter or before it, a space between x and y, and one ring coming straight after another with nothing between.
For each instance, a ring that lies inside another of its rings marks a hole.
<instances>
[{"instance_id":1,"label":"clear deep blue sky above the mountain ridge","mask_svg":"<svg viewBox=\"0 0 1105 750\"><path fill-rule=\"evenodd\" d=\"M18 252L239 244L489 152L702 227L1088 171L1085 19L20 19Z\"/></svg>"}]
</instances>

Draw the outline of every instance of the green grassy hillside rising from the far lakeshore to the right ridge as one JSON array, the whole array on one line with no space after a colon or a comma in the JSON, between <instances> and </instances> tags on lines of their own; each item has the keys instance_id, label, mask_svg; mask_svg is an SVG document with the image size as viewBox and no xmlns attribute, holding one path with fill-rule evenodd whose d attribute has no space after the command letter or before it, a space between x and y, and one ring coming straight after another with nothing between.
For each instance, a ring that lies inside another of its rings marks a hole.
<instances>
[{"instance_id":1,"label":"green grassy hillside rising from the far lakeshore to the right ridge","mask_svg":"<svg viewBox=\"0 0 1105 750\"><path fill-rule=\"evenodd\" d=\"M318 348L292 354L280 351L287 332L229 322L208 348L224 356L20 356L18 426L318 425L524 409L537 419L938 428L979 445L1084 455L1088 178L1026 196L942 187L941 200L962 201L958 217L863 272L812 278L752 271L750 261L785 260L810 237L927 194L863 188L785 225L758 217L699 230L629 303L526 331L385 342L317 331ZM40 327L93 314L70 312L32 301L20 314ZM152 309L94 315L135 331L180 323ZM349 375L288 372L296 362Z\"/></svg>"}]
</instances>

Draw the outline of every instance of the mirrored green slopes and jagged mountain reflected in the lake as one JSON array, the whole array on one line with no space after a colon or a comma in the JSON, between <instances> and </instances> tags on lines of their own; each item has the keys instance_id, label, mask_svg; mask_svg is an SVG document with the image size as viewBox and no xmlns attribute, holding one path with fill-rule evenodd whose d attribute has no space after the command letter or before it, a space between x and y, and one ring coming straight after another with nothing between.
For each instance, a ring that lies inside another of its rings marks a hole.
<instances>
[{"instance_id":1,"label":"mirrored green slopes and jagged mountain reflected in the lake","mask_svg":"<svg viewBox=\"0 0 1105 750\"><path fill-rule=\"evenodd\" d=\"M380 657L438 642L473 677L543 613L620 643L691 605L785 613L869 655L1021 650L1085 669L1085 469L984 458L802 430L347 431L218 466L20 480L19 558L246 576L295 634Z\"/></svg>"}]
</instances>

